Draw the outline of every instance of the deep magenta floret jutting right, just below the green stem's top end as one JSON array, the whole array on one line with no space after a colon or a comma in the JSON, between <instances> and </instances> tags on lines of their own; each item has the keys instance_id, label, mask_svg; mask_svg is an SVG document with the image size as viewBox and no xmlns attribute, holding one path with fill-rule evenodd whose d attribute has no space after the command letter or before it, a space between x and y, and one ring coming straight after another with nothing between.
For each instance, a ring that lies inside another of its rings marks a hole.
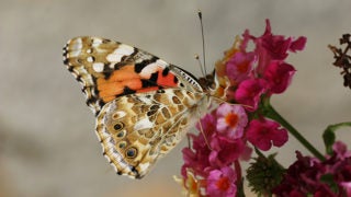
<instances>
[{"instance_id":1,"label":"deep magenta floret jutting right, just below the green stem's top end","mask_svg":"<svg viewBox=\"0 0 351 197\"><path fill-rule=\"evenodd\" d=\"M252 119L246 131L247 139L257 148L267 151L272 144L282 147L287 141L287 131L276 121L269 119Z\"/></svg>"}]
</instances>

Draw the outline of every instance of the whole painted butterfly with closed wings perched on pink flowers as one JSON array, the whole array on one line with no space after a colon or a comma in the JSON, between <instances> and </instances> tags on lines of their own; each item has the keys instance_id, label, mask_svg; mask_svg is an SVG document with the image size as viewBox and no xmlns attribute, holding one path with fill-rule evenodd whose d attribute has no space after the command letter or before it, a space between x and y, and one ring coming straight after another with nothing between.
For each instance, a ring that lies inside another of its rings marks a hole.
<instances>
[{"instance_id":1,"label":"whole painted butterfly with closed wings perched on pink flowers","mask_svg":"<svg viewBox=\"0 0 351 197\"><path fill-rule=\"evenodd\" d=\"M103 155L117 174L132 178L144 177L219 97L215 72L196 79L147 51L105 38L70 39L64 63L95 115Z\"/></svg>"}]
</instances>

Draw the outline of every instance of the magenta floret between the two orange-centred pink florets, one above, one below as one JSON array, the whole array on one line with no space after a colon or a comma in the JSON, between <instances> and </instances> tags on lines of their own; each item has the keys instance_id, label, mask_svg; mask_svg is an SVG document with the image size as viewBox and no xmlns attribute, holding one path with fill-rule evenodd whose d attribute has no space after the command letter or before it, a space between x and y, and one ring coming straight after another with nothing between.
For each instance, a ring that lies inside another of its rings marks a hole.
<instances>
[{"instance_id":1,"label":"magenta floret between the two orange-centred pink florets, one above, one below","mask_svg":"<svg viewBox=\"0 0 351 197\"><path fill-rule=\"evenodd\" d=\"M225 138L213 138L211 140L212 151L208 160L212 166L222 167L230 165L238 160L245 151L245 142L241 139L227 140Z\"/></svg>"}]
</instances>

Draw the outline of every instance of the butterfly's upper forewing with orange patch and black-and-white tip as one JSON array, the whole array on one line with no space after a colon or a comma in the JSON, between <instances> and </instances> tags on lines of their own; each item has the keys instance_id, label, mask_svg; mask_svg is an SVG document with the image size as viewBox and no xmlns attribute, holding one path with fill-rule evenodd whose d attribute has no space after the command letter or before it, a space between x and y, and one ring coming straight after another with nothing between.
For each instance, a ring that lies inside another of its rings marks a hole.
<instances>
[{"instance_id":1,"label":"butterfly's upper forewing with orange patch and black-and-white tip","mask_svg":"<svg viewBox=\"0 0 351 197\"><path fill-rule=\"evenodd\" d=\"M202 92L189 72L141 49L105 38L70 39L64 47L64 62L82 84L87 104L95 115L121 95L176 86Z\"/></svg>"}]
</instances>

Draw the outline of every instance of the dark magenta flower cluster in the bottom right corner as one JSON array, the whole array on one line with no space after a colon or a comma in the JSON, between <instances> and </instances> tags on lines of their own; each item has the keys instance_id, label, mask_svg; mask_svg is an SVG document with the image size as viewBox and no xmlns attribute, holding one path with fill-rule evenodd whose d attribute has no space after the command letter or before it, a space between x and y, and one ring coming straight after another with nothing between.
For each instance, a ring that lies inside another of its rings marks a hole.
<instances>
[{"instance_id":1,"label":"dark magenta flower cluster in the bottom right corner","mask_svg":"<svg viewBox=\"0 0 351 197\"><path fill-rule=\"evenodd\" d=\"M326 161L303 157L296 152L297 161L286 171L282 183L273 189L278 196L351 196L351 151L337 141L333 154Z\"/></svg>"}]
</instances>

